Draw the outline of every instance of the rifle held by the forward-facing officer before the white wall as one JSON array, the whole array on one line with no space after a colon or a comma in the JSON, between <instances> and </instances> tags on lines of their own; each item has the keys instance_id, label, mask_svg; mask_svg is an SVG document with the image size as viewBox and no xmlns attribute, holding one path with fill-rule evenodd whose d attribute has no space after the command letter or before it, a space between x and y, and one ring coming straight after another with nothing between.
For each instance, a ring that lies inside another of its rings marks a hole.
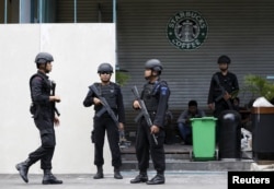
<instances>
[{"instance_id":1,"label":"rifle held by the forward-facing officer before the white wall","mask_svg":"<svg viewBox=\"0 0 274 189\"><path fill-rule=\"evenodd\" d=\"M95 116L100 117L100 116L102 116L102 114L107 111L107 114L112 117L112 119L114 120L114 122L118 127L119 122L118 122L117 117L115 116L114 111L110 107L106 99L101 95L101 93L99 93L98 87L93 84L93 85L91 85L91 90L94 92L94 94L98 96L98 98L101 101L101 104L103 105L103 108L100 111L98 111Z\"/></svg>"}]
</instances>

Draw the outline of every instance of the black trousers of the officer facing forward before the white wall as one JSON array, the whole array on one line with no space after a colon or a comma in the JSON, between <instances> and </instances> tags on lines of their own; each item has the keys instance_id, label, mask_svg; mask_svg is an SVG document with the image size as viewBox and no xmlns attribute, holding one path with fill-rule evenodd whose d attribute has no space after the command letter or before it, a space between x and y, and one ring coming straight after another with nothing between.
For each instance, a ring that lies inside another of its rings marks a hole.
<instances>
[{"instance_id":1,"label":"black trousers of the officer facing forward before the white wall","mask_svg":"<svg viewBox=\"0 0 274 189\"><path fill-rule=\"evenodd\" d=\"M102 115L100 118L93 118L94 130L92 138L94 143L94 165L102 166L104 164L103 149L105 132L107 134L109 145L112 154L112 166L119 168L122 165L121 151L119 151L119 133L118 128L113 119L107 115Z\"/></svg>"}]
</instances>

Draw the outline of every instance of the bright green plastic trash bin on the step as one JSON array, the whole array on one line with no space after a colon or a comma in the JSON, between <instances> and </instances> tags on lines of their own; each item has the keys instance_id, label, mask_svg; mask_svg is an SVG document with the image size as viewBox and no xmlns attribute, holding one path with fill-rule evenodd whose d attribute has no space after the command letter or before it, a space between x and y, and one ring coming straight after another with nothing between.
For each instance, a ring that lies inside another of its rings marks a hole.
<instances>
[{"instance_id":1,"label":"bright green plastic trash bin on the step","mask_svg":"<svg viewBox=\"0 0 274 189\"><path fill-rule=\"evenodd\" d=\"M218 158L216 151L216 120L215 117L192 118L193 160Z\"/></svg>"}]
</instances>

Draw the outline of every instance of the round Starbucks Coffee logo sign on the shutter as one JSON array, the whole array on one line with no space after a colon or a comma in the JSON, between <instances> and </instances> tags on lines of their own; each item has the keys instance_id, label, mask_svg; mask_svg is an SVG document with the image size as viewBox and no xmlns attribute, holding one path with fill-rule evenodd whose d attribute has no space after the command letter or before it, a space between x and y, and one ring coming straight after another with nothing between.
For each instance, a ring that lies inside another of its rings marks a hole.
<instances>
[{"instance_id":1,"label":"round Starbucks Coffee logo sign on the shutter","mask_svg":"<svg viewBox=\"0 0 274 189\"><path fill-rule=\"evenodd\" d=\"M195 11L182 11L173 15L167 27L170 43L180 49L198 48L207 36L207 23Z\"/></svg>"}]
</instances>

